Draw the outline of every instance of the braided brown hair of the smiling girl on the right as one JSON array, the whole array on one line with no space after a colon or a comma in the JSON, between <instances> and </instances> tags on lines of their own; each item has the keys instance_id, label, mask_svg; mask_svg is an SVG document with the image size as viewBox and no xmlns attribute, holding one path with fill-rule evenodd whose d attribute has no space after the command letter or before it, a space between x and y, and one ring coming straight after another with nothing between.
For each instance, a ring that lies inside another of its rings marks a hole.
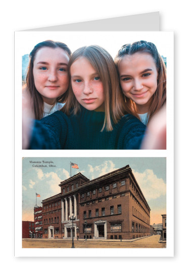
<instances>
[{"instance_id":1,"label":"braided brown hair of the smiling girl on the right","mask_svg":"<svg viewBox=\"0 0 190 268\"><path fill-rule=\"evenodd\" d=\"M166 102L166 66L165 63L158 53L157 47L155 44L147 41L137 41L131 44L125 44L121 47L115 57L115 64L118 70L119 63L121 59L126 55L133 55L136 52L146 52L149 53L156 64L158 77L157 77L157 89L152 96L152 102L148 112L149 120L151 117L156 114L161 107ZM119 71L118 71L119 75ZM130 110L130 114L134 115L139 119L137 114L136 104L133 100L129 99L125 95L123 95L126 105Z\"/></svg>"}]
</instances>

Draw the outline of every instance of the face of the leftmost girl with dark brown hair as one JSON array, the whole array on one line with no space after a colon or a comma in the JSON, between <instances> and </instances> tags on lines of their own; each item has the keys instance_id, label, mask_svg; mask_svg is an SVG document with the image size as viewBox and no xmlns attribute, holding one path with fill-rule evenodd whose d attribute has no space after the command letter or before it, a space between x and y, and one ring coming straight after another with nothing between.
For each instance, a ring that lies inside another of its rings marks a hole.
<instances>
[{"instance_id":1,"label":"face of the leftmost girl with dark brown hair","mask_svg":"<svg viewBox=\"0 0 190 268\"><path fill-rule=\"evenodd\" d=\"M34 84L44 102L54 104L57 97L68 89L68 63L67 52L60 47L42 47L36 52L33 64Z\"/></svg>"}]
</instances>

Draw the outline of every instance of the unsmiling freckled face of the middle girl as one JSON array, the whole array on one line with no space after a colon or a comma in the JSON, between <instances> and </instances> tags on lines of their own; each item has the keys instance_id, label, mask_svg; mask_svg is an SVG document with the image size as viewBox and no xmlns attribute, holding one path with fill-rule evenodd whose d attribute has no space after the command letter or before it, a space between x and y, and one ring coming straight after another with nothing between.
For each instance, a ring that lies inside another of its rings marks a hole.
<instances>
[{"instance_id":1,"label":"unsmiling freckled face of the middle girl","mask_svg":"<svg viewBox=\"0 0 190 268\"><path fill-rule=\"evenodd\" d=\"M70 72L77 101L89 111L105 111L103 83L90 62L80 57L71 65Z\"/></svg>"}]
</instances>

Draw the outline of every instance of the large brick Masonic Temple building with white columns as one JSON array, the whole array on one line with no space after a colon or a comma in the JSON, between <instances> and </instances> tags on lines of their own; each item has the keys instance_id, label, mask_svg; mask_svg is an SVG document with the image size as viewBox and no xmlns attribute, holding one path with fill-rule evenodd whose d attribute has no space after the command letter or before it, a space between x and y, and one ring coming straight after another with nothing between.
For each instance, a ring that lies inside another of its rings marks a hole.
<instances>
[{"instance_id":1,"label":"large brick Masonic Temple building with white columns","mask_svg":"<svg viewBox=\"0 0 190 268\"><path fill-rule=\"evenodd\" d=\"M133 239L150 235L150 207L130 167L94 180L81 173L42 200L43 238ZM73 223L69 216L74 215Z\"/></svg>"}]
</instances>

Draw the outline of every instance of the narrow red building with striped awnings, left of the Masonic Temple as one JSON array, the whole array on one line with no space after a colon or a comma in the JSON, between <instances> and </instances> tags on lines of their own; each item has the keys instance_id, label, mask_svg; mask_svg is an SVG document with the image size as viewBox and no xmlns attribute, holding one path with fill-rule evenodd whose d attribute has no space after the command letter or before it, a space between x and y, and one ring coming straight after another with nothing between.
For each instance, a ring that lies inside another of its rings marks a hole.
<instances>
[{"instance_id":1,"label":"narrow red building with striped awnings, left of the Masonic Temple","mask_svg":"<svg viewBox=\"0 0 190 268\"><path fill-rule=\"evenodd\" d=\"M34 206L35 238L42 238L42 207Z\"/></svg>"}]
</instances>

